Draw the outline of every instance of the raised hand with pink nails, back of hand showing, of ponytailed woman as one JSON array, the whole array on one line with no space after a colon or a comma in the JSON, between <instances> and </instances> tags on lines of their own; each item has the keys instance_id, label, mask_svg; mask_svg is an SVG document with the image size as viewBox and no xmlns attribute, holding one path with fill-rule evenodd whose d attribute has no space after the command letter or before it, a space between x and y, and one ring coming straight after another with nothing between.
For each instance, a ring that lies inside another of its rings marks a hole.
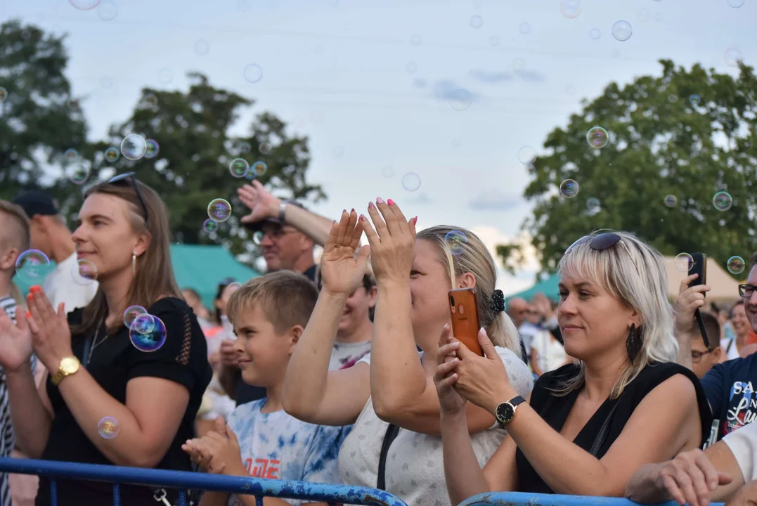
<instances>
[{"instance_id":1,"label":"raised hand with pink nails, back of hand showing, of ponytailed woman","mask_svg":"<svg viewBox=\"0 0 757 506\"><path fill-rule=\"evenodd\" d=\"M371 247L371 266L376 282L386 281L406 283L410 281L410 270L416 256L416 216L409 221L391 199L384 202L381 197L376 203L368 204L368 219L360 216L360 222ZM374 230L375 227L375 230Z\"/></svg>"}]
</instances>

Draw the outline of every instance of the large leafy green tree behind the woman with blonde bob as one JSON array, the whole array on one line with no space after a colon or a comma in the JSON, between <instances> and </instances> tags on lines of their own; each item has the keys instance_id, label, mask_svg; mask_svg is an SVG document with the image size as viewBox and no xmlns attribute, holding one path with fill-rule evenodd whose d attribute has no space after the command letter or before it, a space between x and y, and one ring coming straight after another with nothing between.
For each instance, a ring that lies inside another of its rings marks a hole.
<instances>
[{"instance_id":1,"label":"large leafy green tree behind the woman with blonde bob","mask_svg":"<svg viewBox=\"0 0 757 506\"><path fill-rule=\"evenodd\" d=\"M584 101L568 126L547 135L545 153L529 166L524 197L534 212L522 228L540 252L542 272L553 272L573 241L601 228L632 231L665 255L706 253L721 265L757 249L752 67L740 65L734 77L660 63L661 76L611 82ZM593 126L609 132L601 149L587 142ZM578 182L577 196L560 194L567 179ZM718 191L731 194L730 209L714 205ZM506 245L500 256L512 262L517 251Z\"/></svg>"}]
</instances>

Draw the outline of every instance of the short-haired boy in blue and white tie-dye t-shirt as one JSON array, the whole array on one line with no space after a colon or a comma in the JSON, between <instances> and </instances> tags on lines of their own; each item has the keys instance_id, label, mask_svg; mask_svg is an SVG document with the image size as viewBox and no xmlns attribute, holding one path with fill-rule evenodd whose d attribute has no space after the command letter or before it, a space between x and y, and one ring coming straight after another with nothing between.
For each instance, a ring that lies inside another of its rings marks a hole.
<instances>
[{"instance_id":1,"label":"short-haired boy in blue and white tie-dye t-shirt","mask_svg":"<svg viewBox=\"0 0 757 506\"><path fill-rule=\"evenodd\" d=\"M281 389L289 357L316 306L318 290L304 275L272 272L248 281L229 299L226 313L237 336L241 377L263 386L266 397L239 405L216 430L182 446L209 473L274 480L339 483L337 456L350 427L307 424L286 414ZM266 506L301 504L280 498ZM201 506L253 505L252 495L205 492Z\"/></svg>"}]
</instances>

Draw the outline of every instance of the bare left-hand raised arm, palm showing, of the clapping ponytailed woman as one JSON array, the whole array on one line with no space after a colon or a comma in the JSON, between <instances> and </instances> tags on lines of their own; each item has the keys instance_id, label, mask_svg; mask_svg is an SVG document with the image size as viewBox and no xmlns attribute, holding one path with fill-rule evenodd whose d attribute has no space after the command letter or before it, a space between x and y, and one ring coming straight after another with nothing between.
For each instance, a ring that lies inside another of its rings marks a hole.
<instances>
[{"instance_id":1,"label":"bare left-hand raised arm, palm showing, of the clapping ponytailed woman","mask_svg":"<svg viewBox=\"0 0 757 506\"><path fill-rule=\"evenodd\" d=\"M366 272L369 249L357 249L360 234L354 211L331 227L321 256L323 287L286 369L284 410L311 424L354 424L370 396L368 365L329 372L344 304Z\"/></svg>"}]
</instances>

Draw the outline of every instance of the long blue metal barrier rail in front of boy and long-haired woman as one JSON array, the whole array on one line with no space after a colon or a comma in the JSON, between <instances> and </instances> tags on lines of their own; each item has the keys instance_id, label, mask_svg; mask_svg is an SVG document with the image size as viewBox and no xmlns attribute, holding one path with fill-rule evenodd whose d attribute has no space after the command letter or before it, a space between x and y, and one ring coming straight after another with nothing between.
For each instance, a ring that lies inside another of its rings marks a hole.
<instances>
[{"instance_id":1,"label":"long blue metal barrier rail in front of boy and long-haired woman","mask_svg":"<svg viewBox=\"0 0 757 506\"><path fill-rule=\"evenodd\" d=\"M0 473L37 474L50 480L52 506L57 506L55 480L89 480L113 483L113 504L120 506L120 484L179 489L179 503L186 506L188 489L254 495L258 506L263 497L301 499L311 502L341 502L366 506L407 506L388 492L360 486L327 485L299 481L227 477L218 474L143 469L140 467L76 464L27 458L0 458ZM160 504L160 503L156 503Z\"/></svg>"}]
</instances>

